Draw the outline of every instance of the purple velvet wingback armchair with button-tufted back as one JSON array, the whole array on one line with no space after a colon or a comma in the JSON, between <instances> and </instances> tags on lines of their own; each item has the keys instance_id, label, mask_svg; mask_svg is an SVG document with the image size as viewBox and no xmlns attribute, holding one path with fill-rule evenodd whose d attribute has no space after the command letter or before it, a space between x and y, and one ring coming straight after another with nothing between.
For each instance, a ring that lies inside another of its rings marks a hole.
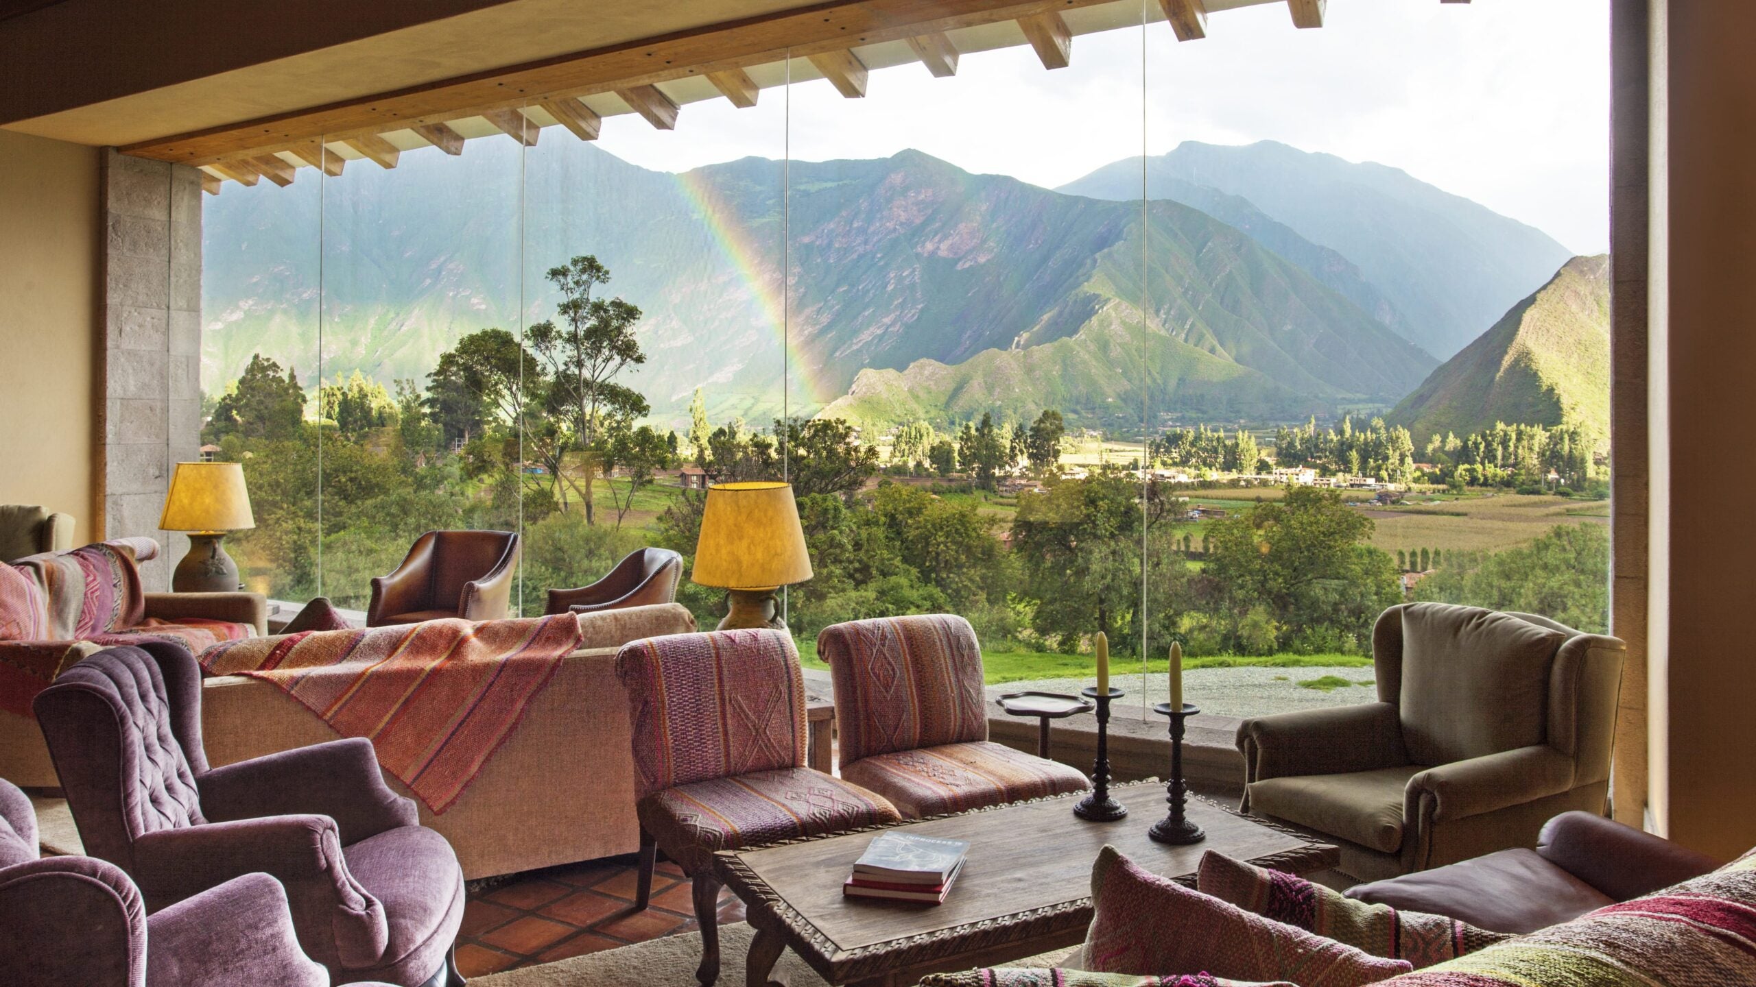
<instances>
[{"instance_id":1,"label":"purple velvet wingback armchair with button-tufted back","mask_svg":"<svg viewBox=\"0 0 1756 987\"><path fill-rule=\"evenodd\" d=\"M128 873L148 910L263 871L337 983L462 983L464 873L385 785L371 741L209 769L200 669L174 645L98 652L35 710L86 850Z\"/></svg>"}]
</instances>

